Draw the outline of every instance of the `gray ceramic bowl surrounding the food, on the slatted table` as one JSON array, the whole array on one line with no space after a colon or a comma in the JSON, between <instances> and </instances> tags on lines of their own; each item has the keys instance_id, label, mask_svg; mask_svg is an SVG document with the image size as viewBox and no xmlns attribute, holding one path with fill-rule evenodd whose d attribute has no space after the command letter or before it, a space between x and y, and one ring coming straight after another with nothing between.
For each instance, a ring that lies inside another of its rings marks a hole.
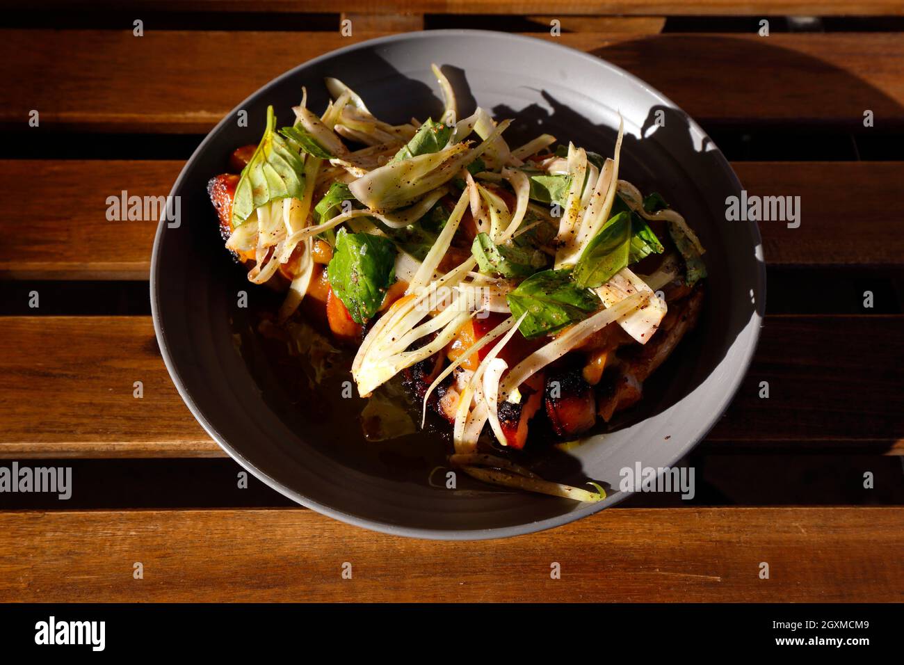
<instances>
[{"instance_id":1,"label":"gray ceramic bowl surrounding the food, on the slatted table","mask_svg":"<svg viewBox=\"0 0 904 665\"><path fill-rule=\"evenodd\" d=\"M476 103L515 118L510 142L547 131L604 155L625 119L622 171L642 191L656 190L680 210L708 249L702 320L645 388L645 400L612 432L588 438L542 463L552 480L607 485L596 504L487 488L464 480L446 489L445 452L435 437L393 444L361 441L362 401L336 405L286 379L287 362L263 352L250 309L237 292L266 300L231 263L207 198L207 180L235 147L257 143L272 104L290 119L301 86L308 105L325 108L325 76L344 80L383 119L434 118L442 108L429 72L446 66L464 117ZM190 81L186 81L190 84ZM240 128L245 109L249 127ZM661 120L659 123L656 120ZM680 460L720 417L738 389L757 343L765 269L755 223L725 222L725 198L738 178L702 129L643 81L596 57L505 33L443 30L358 43L270 81L242 101L204 139L175 182L182 225L161 223L151 268L151 302L170 375L194 416L244 468L298 503L392 534L467 539L507 537L555 527L625 499L619 470ZM240 345L236 340L240 339Z\"/></svg>"}]
</instances>

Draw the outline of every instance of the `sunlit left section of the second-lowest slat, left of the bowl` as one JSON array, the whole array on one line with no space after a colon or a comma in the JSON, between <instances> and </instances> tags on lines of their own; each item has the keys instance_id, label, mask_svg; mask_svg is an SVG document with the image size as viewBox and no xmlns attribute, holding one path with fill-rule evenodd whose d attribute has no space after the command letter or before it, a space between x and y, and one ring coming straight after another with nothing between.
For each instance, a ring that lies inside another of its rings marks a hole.
<instances>
[{"instance_id":1,"label":"sunlit left section of the second-lowest slat, left of the bowl","mask_svg":"<svg viewBox=\"0 0 904 665\"><path fill-rule=\"evenodd\" d=\"M224 454L176 392L149 318L0 318L0 330L19 345L0 360L0 455Z\"/></svg>"}]
</instances>

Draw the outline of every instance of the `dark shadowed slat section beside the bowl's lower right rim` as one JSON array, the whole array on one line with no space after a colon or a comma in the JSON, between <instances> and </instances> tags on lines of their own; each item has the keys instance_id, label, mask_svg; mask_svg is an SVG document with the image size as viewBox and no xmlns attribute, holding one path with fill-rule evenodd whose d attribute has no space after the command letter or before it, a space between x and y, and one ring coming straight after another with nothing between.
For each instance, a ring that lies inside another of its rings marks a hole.
<instances>
[{"instance_id":1,"label":"dark shadowed slat section beside the bowl's lower right rim","mask_svg":"<svg viewBox=\"0 0 904 665\"><path fill-rule=\"evenodd\" d=\"M744 384L707 441L882 442L904 454L901 358L901 316L768 316Z\"/></svg>"}]
</instances>

